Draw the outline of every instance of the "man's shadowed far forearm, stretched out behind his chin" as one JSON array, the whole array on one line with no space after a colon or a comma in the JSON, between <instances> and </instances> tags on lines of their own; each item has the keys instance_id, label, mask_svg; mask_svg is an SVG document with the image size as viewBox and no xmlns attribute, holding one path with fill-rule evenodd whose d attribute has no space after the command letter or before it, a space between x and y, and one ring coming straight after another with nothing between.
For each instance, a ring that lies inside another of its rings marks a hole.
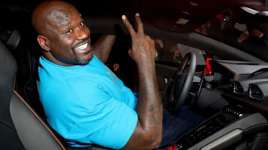
<instances>
[{"instance_id":1,"label":"man's shadowed far forearm, stretched out behind his chin","mask_svg":"<svg viewBox=\"0 0 268 150\"><path fill-rule=\"evenodd\" d=\"M105 63L110 55L116 35L102 35L101 38L92 46L95 55L100 61Z\"/></svg>"}]
</instances>

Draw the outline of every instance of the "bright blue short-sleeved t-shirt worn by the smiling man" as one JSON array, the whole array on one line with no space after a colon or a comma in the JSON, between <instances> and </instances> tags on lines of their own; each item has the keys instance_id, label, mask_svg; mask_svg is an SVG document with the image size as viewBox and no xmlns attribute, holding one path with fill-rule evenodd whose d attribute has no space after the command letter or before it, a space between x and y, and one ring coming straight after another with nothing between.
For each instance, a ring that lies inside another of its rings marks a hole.
<instances>
[{"instance_id":1,"label":"bright blue short-sleeved t-shirt worn by the smiling man","mask_svg":"<svg viewBox=\"0 0 268 150\"><path fill-rule=\"evenodd\" d=\"M64 67L39 59L39 98L50 126L70 146L120 149L136 124L137 98L95 55L87 65Z\"/></svg>"}]
</instances>

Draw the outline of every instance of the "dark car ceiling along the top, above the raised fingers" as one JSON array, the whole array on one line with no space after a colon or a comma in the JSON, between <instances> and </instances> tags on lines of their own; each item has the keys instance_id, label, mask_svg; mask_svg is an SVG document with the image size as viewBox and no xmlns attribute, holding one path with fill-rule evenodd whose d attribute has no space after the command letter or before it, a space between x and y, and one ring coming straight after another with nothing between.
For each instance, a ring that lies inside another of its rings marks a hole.
<instances>
[{"instance_id":1,"label":"dark car ceiling along the top, above the raised fingers","mask_svg":"<svg viewBox=\"0 0 268 150\"><path fill-rule=\"evenodd\" d=\"M42 1L5 2L5 8L12 11L31 13L33 8ZM191 32L206 21L221 14L239 0L165 0L165 1L74 1L69 0L84 17L120 18L125 14L130 20L139 12L142 21L146 21L162 30L171 32ZM195 4L198 6L194 6ZM192 5L191 5L192 4ZM187 12L187 13L185 13ZM180 19L189 20L185 25L177 24Z\"/></svg>"}]
</instances>

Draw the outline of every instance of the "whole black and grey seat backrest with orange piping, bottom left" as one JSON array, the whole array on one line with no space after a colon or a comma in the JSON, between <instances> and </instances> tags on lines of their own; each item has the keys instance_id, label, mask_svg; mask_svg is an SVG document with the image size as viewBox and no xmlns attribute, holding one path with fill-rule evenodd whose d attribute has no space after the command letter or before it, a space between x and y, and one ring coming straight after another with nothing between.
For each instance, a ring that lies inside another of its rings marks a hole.
<instances>
[{"instance_id":1,"label":"whole black and grey seat backrest with orange piping, bottom left","mask_svg":"<svg viewBox=\"0 0 268 150\"><path fill-rule=\"evenodd\" d=\"M0 149L65 150L36 111L14 90L16 72L15 59L0 43Z\"/></svg>"}]
</instances>

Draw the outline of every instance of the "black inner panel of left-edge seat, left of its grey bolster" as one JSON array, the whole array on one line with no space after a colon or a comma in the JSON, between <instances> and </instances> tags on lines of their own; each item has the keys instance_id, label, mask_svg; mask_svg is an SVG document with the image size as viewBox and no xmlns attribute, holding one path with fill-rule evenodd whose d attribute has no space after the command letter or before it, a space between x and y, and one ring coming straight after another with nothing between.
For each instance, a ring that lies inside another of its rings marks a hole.
<instances>
[{"instance_id":1,"label":"black inner panel of left-edge seat, left of its grey bolster","mask_svg":"<svg viewBox=\"0 0 268 150\"><path fill-rule=\"evenodd\" d=\"M1 41L0 41L1 42ZM15 86L15 76L17 64L4 47L0 43L0 149L16 149L24 150L21 143L15 124L10 115L10 100L13 95Z\"/></svg>"}]
</instances>

